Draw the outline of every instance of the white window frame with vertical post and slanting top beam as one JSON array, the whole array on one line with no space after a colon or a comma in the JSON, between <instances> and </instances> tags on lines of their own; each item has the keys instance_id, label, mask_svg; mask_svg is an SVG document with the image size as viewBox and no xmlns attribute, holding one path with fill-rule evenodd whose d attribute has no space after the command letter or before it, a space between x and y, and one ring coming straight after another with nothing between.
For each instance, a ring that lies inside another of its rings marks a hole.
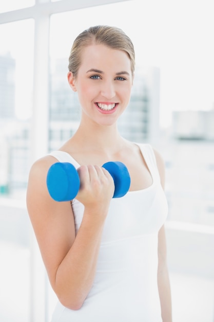
<instances>
[{"instance_id":1,"label":"white window frame with vertical post and slanting top beam","mask_svg":"<svg viewBox=\"0 0 214 322\"><path fill-rule=\"evenodd\" d=\"M60 0L58 2L35 0L35 5L32 7L0 13L0 24L26 19L34 20L33 105L30 132L31 164L48 152L49 33L51 15L124 1L127 0L91 0L89 4L87 0ZM31 322L48 322L48 278L33 230L30 235L29 320Z\"/></svg>"}]
</instances>

